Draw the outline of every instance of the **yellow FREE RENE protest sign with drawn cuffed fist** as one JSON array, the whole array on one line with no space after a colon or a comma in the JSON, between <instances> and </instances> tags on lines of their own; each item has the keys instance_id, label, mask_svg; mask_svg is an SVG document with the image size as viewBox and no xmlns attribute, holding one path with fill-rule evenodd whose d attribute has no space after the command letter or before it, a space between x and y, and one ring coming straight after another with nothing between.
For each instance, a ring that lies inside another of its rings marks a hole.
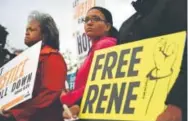
<instances>
[{"instance_id":1,"label":"yellow FREE RENE protest sign with drawn cuffed fist","mask_svg":"<svg viewBox=\"0 0 188 121\"><path fill-rule=\"evenodd\" d=\"M179 32L97 51L80 118L155 121L179 74L185 36Z\"/></svg>"}]
</instances>

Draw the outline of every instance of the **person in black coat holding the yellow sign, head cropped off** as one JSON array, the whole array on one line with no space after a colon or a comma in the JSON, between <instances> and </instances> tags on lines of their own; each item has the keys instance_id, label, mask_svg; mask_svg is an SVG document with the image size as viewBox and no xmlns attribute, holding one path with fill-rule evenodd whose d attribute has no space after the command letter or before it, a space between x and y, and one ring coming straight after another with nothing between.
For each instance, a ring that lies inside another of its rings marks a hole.
<instances>
[{"instance_id":1,"label":"person in black coat holding the yellow sign, head cropped off","mask_svg":"<svg viewBox=\"0 0 188 121\"><path fill-rule=\"evenodd\" d=\"M137 0L132 5L136 13L121 25L119 44L187 31L187 0ZM187 120L187 44L179 76L164 103L167 108L157 121Z\"/></svg>"}]
</instances>

